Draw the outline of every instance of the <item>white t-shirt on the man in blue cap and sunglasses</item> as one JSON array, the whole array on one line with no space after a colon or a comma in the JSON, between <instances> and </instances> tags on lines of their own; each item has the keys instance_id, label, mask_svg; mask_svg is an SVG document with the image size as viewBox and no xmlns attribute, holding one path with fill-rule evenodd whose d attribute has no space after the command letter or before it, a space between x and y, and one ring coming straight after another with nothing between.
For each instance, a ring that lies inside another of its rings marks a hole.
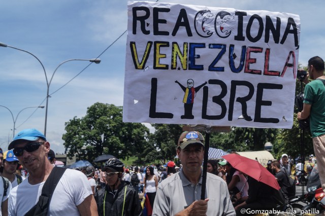
<instances>
[{"instance_id":1,"label":"white t-shirt on the man in blue cap and sunglasses","mask_svg":"<svg viewBox=\"0 0 325 216\"><path fill-rule=\"evenodd\" d=\"M44 183L30 185L27 178L13 188L8 200L9 215L25 215L38 202ZM80 215L77 206L89 195L92 191L86 175L67 169L53 192L47 215Z\"/></svg>"}]
</instances>

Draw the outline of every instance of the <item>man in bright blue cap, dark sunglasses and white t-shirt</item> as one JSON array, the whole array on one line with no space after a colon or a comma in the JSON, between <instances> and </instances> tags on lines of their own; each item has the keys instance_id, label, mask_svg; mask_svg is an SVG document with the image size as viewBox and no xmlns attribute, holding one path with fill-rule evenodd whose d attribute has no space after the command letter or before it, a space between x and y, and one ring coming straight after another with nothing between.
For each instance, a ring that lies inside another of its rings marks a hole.
<instances>
[{"instance_id":1,"label":"man in bright blue cap, dark sunglasses and white t-shirt","mask_svg":"<svg viewBox=\"0 0 325 216\"><path fill-rule=\"evenodd\" d=\"M20 131L10 143L9 150L29 173L15 187L8 201L9 215L25 215L42 193L46 179L54 166L48 160L50 143L36 129ZM97 215L97 206L87 177L79 171L66 169L52 194L48 215Z\"/></svg>"}]
</instances>

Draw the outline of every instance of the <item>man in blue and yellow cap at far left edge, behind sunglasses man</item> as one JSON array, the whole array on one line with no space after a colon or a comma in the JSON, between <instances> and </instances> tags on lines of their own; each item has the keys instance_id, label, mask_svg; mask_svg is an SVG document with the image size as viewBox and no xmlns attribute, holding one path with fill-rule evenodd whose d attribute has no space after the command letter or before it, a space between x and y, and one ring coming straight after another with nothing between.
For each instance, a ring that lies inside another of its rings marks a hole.
<instances>
[{"instance_id":1,"label":"man in blue and yellow cap at far left edge, behind sunglasses man","mask_svg":"<svg viewBox=\"0 0 325 216\"><path fill-rule=\"evenodd\" d=\"M1 175L9 179L12 188L18 186L25 179L24 177L16 174L18 159L12 150L5 152L3 165L4 170Z\"/></svg>"}]
</instances>

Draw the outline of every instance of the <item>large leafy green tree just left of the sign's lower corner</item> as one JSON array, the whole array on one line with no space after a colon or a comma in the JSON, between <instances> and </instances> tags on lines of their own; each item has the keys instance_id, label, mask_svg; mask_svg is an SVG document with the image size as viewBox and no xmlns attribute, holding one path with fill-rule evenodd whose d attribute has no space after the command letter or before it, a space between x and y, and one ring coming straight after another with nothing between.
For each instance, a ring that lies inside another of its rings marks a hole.
<instances>
[{"instance_id":1,"label":"large leafy green tree just left of the sign's lower corner","mask_svg":"<svg viewBox=\"0 0 325 216\"><path fill-rule=\"evenodd\" d=\"M148 145L149 129L141 123L122 122L122 107L113 104L94 103L84 117L74 117L65 126L62 139L66 153L78 160L93 161L103 154L141 160Z\"/></svg>"}]
</instances>

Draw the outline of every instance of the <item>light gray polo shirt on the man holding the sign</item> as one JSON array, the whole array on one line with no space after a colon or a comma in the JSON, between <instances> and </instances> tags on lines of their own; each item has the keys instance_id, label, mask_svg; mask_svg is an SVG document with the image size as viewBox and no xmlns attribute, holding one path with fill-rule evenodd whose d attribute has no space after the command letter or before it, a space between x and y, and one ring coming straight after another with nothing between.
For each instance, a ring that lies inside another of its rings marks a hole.
<instances>
[{"instance_id":1,"label":"light gray polo shirt on the man holding the sign","mask_svg":"<svg viewBox=\"0 0 325 216\"><path fill-rule=\"evenodd\" d=\"M199 183L193 185L181 169L158 185L152 215L175 215L201 199L201 187L202 176ZM227 185L219 176L207 173L205 198L209 198L207 215L236 215Z\"/></svg>"}]
</instances>

